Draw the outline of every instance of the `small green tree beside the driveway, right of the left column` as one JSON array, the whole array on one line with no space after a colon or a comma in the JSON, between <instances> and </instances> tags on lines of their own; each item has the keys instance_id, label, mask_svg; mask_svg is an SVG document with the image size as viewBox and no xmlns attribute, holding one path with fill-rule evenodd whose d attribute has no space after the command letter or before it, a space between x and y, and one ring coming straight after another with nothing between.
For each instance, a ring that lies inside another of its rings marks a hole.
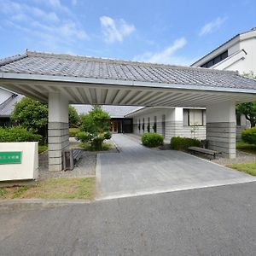
<instances>
[{"instance_id":1,"label":"small green tree beside the driveway, right of the left column","mask_svg":"<svg viewBox=\"0 0 256 256\"><path fill-rule=\"evenodd\" d=\"M89 113L82 115L77 139L82 143L90 143L90 148L94 150L102 150L103 141L111 137L109 120L107 112L100 106L94 106Z\"/></svg>"}]
</instances>

